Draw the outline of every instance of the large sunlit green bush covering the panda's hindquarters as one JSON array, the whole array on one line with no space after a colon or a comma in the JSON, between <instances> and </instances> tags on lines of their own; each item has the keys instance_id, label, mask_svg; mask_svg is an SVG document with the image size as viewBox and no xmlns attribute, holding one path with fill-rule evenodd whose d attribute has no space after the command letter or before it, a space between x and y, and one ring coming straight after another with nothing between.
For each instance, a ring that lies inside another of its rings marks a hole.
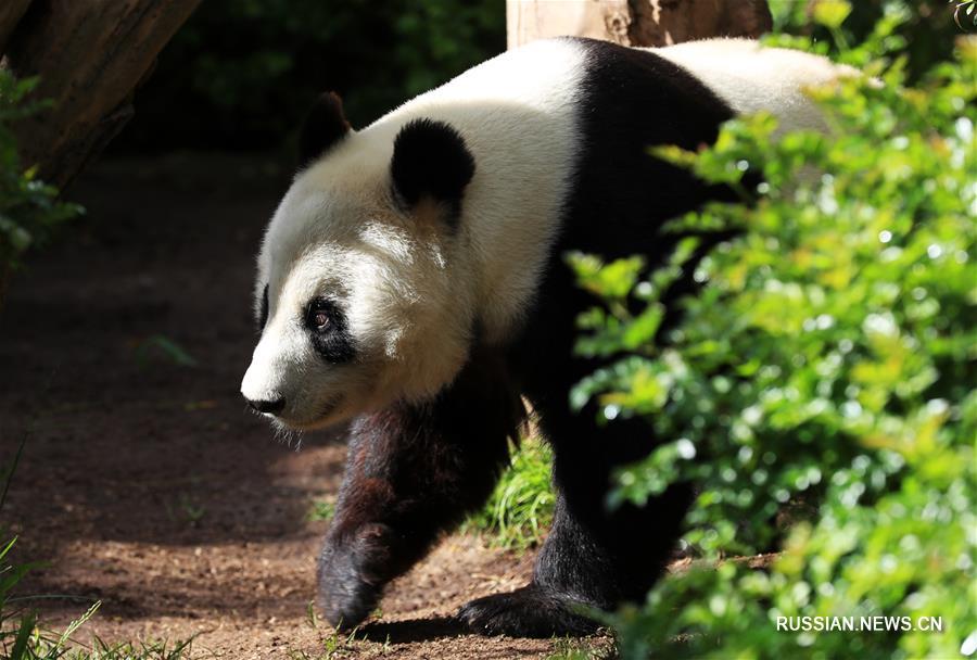
<instances>
[{"instance_id":1,"label":"large sunlit green bush covering the panda's hindquarters","mask_svg":"<svg viewBox=\"0 0 977 660\"><path fill-rule=\"evenodd\" d=\"M898 48L903 17L841 59ZM829 29L843 18L819 17ZM673 223L737 230L700 262L694 238L650 276L640 259L571 259L606 301L581 319L578 350L620 356L574 399L598 397L608 420L640 415L673 439L619 471L609 506L678 480L699 493L685 538L700 560L644 608L607 618L624 658L977 647L977 42L961 38L915 88L905 64L867 65L883 85L812 92L832 137L774 139L775 120L757 116L700 153L659 151L758 198ZM745 176L761 172L748 190ZM701 287L658 333L662 296L686 269ZM640 314L627 314L629 296L645 301ZM735 559L771 550L764 568ZM777 630L781 617L829 615L857 630ZM908 619L858 630L875 615ZM918 630L919 617L940 617L942 632Z\"/></svg>"}]
</instances>

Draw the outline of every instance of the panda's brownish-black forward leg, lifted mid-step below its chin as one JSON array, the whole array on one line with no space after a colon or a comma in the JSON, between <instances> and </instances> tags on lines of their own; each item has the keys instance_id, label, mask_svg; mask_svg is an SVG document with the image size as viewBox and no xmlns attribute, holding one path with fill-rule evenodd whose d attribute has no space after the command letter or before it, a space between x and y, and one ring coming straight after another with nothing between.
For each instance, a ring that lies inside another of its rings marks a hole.
<instances>
[{"instance_id":1,"label":"panda's brownish-black forward leg, lifted mid-step below its chin","mask_svg":"<svg viewBox=\"0 0 977 660\"><path fill-rule=\"evenodd\" d=\"M332 624L359 624L388 582L484 503L522 415L504 363L480 354L434 399L354 422L319 557L318 601Z\"/></svg>"}]
</instances>

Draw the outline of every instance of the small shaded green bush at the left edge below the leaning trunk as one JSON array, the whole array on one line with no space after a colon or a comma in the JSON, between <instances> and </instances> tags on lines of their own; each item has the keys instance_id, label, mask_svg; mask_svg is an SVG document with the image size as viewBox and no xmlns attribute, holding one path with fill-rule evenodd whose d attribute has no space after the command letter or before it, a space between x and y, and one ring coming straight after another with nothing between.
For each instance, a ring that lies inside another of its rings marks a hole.
<instances>
[{"instance_id":1,"label":"small shaded green bush at the left edge below the leaning trunk","mask_svg":"<svg viewBox=\"0 0 977 660\"><path fill-rule=\"evenodd\" d=\"M24 254L80 213L79 206L60 202L58 191L40 181L34 167L24 169L17 156L10 125L41 110L42 103L25 101L34 85L33 79L15 80L0 68L0 300L7 278Z\"/></svg>"}]
</instances>

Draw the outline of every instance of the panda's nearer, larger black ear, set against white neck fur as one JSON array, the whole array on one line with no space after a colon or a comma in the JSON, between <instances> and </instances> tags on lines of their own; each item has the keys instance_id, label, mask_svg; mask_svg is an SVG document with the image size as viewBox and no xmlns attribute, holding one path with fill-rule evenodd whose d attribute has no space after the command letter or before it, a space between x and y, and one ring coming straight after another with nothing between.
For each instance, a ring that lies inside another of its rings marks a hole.
<instances>
[{"instance_id":1,"label":"panda's nearer, larger black ear, set against white neck fur","mask_svg":"<svg viewBox=\"0 0 977 660\"><path fill-rule=\"evenodd\" d=\"M399 202L413 208L430 196L457 213L465 187L474 175L474 157L452 126L415 119L394 140L390 173Z\"/></svg>"}]
</instances>

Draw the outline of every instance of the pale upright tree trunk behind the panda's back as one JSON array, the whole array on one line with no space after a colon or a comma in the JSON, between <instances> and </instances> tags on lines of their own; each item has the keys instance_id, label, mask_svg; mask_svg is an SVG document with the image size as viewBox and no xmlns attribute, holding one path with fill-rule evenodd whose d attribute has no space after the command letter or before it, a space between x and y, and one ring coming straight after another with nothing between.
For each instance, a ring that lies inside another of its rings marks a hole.
<instances>
[{"instance_id":1,"label":"pale upright tree trunk behind the panda's back","mask_svg":"<svg viewBox=\"0 0 977 660\"><path fill-rule=\"evenodd\" d=\"M506 0L506 21L509 48L561 35L667 46L773 26L766 0Z\"/></svg>"}]
</instances>

